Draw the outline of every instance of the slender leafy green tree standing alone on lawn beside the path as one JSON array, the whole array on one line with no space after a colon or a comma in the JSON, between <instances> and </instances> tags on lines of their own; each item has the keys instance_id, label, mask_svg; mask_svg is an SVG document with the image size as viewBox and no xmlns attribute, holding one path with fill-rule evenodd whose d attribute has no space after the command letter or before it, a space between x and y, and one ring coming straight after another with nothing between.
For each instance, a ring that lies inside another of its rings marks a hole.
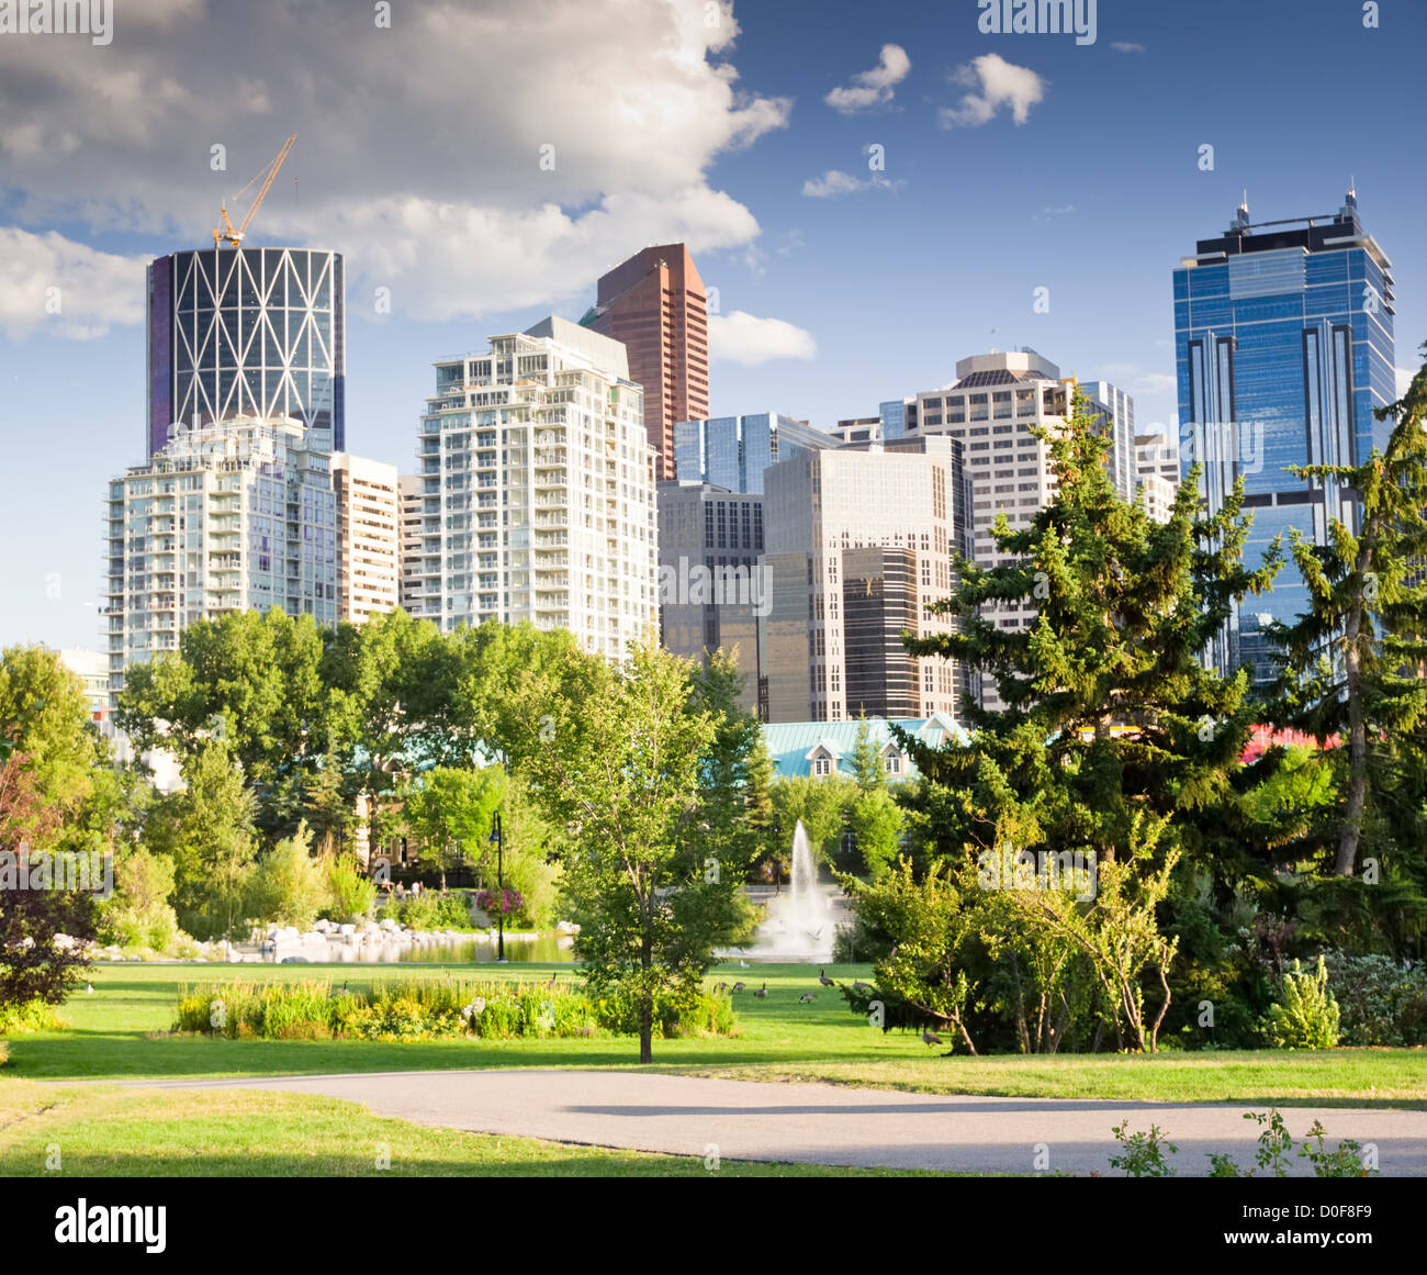
<instances>
[{"instance_id":1,"label":"slender leafy green tree standing alone on lawn beside the path","mask_svg":"<svg viewBox=\"0 0 1427 1275\"><path fill-rule=\"evenodd\" d=\"M719 744L738 728L708 694L692 661L648 640L619 668L571 654L518 680L501 708L512 768L569 830L564 894L586 985L638 1007L641 1062L656 1005L701 994L714 948L745 922L743 851L705 785L742 744Z\"/></svg>"}]
</instances>

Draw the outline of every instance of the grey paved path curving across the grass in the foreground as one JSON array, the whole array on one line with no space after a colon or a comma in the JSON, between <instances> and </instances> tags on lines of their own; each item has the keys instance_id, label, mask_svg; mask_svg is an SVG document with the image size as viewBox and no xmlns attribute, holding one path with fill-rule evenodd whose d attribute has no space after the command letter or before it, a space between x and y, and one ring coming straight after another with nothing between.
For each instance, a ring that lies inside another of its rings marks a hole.
<instances>
[{"instance_id":1,"label":"grey paved path curving across the grass in the foreground","mask_svg":"<svg viewBox=\"0 0 1427 1275\"><path fill-rule=\"evenodd\" d=\"M821 1084L753 1084L629 1071L414 1071L143 1081L157 1088L285 1089L362 1102L378 1115L485 1134L722 1159L1023 1174L1045 1144L1052 1171L1107 1171L1110 1134L1157 1124L1179 1147L1182 1175L1207 1174L1209 1152L1253 1162L1260 1127L1249 1108L1219 1104L1114 1102L903 1094ZM1259 1107L1264 1109L1264 1107ZM1384 1176L1427 1176L1427 1112L1361 1108L1284 1109L1301 1139L1314 1118L1329 1147L1356 1138L1377 1147ZM1307 1162L1293 1159L1294 1174Z\"/></svg>"}]
</instances>

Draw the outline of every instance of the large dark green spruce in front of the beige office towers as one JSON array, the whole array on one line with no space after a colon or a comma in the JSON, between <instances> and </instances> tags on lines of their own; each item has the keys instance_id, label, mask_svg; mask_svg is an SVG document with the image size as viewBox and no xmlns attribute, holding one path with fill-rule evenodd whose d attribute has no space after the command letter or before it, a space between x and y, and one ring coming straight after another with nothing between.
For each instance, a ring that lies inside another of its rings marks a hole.
<instances>
[{"instance_id":1,"label":"large dark green spruce in front of the beige office towers","mask_svg":"<svg viewBox=\"0 0 1427 1275\"><path fill-rule=\"evenodd\" d=\"M959 630L906 640L913 655L962 660L989 672L1006 708L968 705L973 737L930 748L896 730L925 781L909 792L942 854L985 848L1003 817L1035 824L1047 850L1113 860L1144 815L1172 815L1169 850L1194 842L1236 800L1232 777L1253 725L1247 677L1202 661L1234 600L1277 570L1270 547L1244 570L1241 487L1197 517L1197 470L1169 523L1119 497L1106 468L1110 438L1083 395L1063 428L1039 431L1059 480L1032 524L993 528L1002 553L958 564L938 604ZM1037 608L1033 625L996 624L1000 604ZM983 614L983 611L986 614Z\"/></svg>"}]
</instances>

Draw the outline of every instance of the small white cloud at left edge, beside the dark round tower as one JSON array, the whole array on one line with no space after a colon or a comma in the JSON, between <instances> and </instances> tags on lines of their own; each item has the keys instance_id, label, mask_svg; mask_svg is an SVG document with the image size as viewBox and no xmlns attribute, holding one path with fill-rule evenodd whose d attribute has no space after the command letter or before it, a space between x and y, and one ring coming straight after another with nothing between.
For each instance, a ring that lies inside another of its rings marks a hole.
<instances>
[{"instance_id":1,"label":"small white cloud at left edge, beside the dark round tower","mask_svg":"<svg viewBox=\"0 0 1427 1275\"><path fill-rule=\"evenodd\" d=\"M61 234L0 226L0 331L73 340L144 317L141 258L98 253Z\"/></svg>"}]
</instances>

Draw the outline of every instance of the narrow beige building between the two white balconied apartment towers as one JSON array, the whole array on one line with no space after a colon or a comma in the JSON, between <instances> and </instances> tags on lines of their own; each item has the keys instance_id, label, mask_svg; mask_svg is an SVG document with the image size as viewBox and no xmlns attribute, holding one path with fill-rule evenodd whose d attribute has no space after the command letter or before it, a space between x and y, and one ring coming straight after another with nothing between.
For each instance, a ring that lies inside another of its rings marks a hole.
<instances>
[{"instance_id":1,"label":"narrow beige building between the two white balconied apartment towers","mask_svg":"<svg viewBox=\"0 0 1427 1275\"><path fill-rule=\"evenodd\" d=\"M397 467L332 453L337 495L337 618L364 624L401 605Z\"/></svg>"}]
</instances>

